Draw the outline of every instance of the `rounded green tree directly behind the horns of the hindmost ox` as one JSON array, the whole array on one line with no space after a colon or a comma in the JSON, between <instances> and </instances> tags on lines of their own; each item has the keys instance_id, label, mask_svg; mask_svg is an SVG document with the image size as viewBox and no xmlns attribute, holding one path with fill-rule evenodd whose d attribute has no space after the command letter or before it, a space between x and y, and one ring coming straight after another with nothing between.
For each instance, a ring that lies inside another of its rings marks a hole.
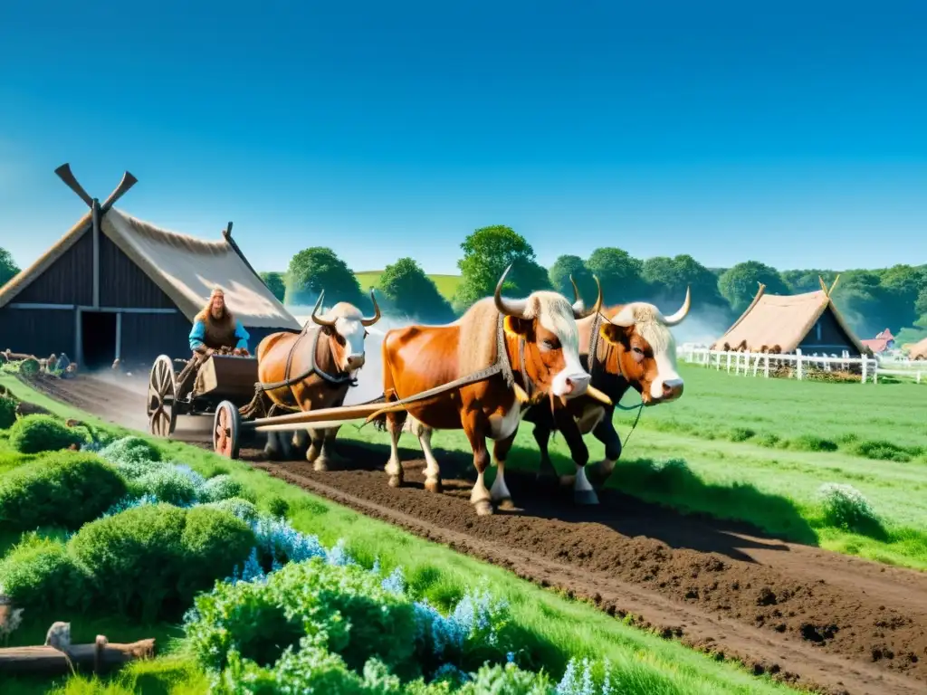
<instances>
[{"instance_id":1,"label":"rounded green tree directly behind the horns of the hindmost ox","mask_svg":"<svg viewBox=\"0 0 927 695\"><path fill-rule=\"evenodd\" d=\"M286 303L311 304L323 291L326 306L339 301L361 306L361 284L332 249L311 246L299 251L286 271Z\"/></svg>"}]
</instances>

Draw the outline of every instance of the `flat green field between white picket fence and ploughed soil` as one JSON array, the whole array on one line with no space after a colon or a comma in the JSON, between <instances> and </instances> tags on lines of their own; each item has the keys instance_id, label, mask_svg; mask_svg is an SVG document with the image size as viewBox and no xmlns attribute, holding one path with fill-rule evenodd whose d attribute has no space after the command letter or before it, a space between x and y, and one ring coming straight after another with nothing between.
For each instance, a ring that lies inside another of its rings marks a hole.
<instances>
[{"instance_id":1,"label":"flat green field between white picket fence and ploughed soil","mask_svg":"<svg viewBox=\"0 0 927 695\"><path fill-rule=\"evenodd\" d=\"M751 522L787 540L927 569L927 385L798 382L679 368L684 395L643 411L609 486L681 511ZM623 405L638 402L633 393ZM617 411L622 438L634 415ZM510 467L537 466L532 429L519 429ZM371 427L347 426L341 433L388 443ZM417 447L409 435L404 441ZM591 436L586 441L591 461L600 460L603 446ZM462 432L436 432L433 443L470 450ZM572 473L562 438L552 439L551 453L562 473ZM662 466L672 460L684 466ZM817 499L827 483L857 488L878 520L833 518Z\"/></svg>"}]
</instances>

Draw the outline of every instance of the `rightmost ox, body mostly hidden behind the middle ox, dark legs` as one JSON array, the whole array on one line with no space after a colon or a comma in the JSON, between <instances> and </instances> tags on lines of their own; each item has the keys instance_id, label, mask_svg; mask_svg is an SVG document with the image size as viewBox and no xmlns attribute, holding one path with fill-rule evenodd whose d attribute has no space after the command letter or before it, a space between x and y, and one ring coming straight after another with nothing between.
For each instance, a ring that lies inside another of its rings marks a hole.
<instances>
[{"instance_id":1,"label":"rightmost ox, body mostly hidden behind the middle ox, dark legs","mask_svg":"<svg viewBox=\"0 0 927 695\"><path fill-rule=\"evenodd\" d=\"M644 406L667 403L682 395L682 377L676 371L676 342L669 327L685 319L691 306L687 289L682 308L670 316L664 316L653 304L634 302L604 309L601 316L577 322L581 357L591 374L591 384L601 389L613 405L581 397L566 402L556 411L533 408L527 412L524 419L535 423L534 438L540 449L539 478L552 479L556 475L547 445L552 431L559 430L576 463L575 501L598 503L586 476L589 449L583 436L591 432L605 445L603 461L590 471L596 482L603 482L621 456L621 437L613 423L614 404L629 388L641 394Z\"/></svg>"}]
</instances>

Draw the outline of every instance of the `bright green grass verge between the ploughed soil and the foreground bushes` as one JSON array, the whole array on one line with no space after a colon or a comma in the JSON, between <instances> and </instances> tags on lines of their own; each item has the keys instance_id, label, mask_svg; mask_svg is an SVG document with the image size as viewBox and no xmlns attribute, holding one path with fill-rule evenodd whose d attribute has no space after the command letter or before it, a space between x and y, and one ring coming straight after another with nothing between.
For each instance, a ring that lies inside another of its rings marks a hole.
<instances>
[{"instance_id":1,"label":"bright green grass verge between the ploughed soil and the foreground bushes","mask_svg":"<svg viewBox=\"0 0 927 695\"><path fill-rule=\"evenodd\" d=\"M67 406L46 402L19 382L0 377L20 398L39 401L49 410L62 415L77 416L93 422L93 418ZM622 621L595 610L590 605L567 600L518 579L501 568L478 562L438 544L413 537L399 529L356 512L339 507L303 490L288 486L262 471L248 467L242 461L221 459L209 451L176 442L153 440L164 450L169 460L184 461L205 475L224 472L248 486L259 500L274 497L286 499L291 523L301 531L318 535L327 545L344 538L350 553L366 564L379 557L385 570L402 565L410 585L422 595L440 605L464 595L477 579L485 578L489 590L512 605L512 614L525 629L527 640L543 654L543 662L555 677L563 673L570 655L608 658L612 663L627 664L640 675L639 692L685 693L773 693L790 692L785 686L767 677L756 678L734 663L723 663L704 654L687 650L679 643L643 632ZM40 643L45 616L24 616L28 626L14 633L16 640ZM56 618L60 619L60 618ZM74 616L73 629L82 638L91 634L106 634L111 641L129 641L141 637L157 637L160 656L150 663L133 663L117 676L104 681L86 677L58 679L55 692L68 695L89 693L201 693L205 691L204 676L184 656L183 642L178 639L176 625L154 625L149 628L126 625L118 620L91 622ZM17 641L17 643L22 643ZM0 679L5 695L25 695L47 691L49 681L34 678Z\"/></svg>"}]
</instances>

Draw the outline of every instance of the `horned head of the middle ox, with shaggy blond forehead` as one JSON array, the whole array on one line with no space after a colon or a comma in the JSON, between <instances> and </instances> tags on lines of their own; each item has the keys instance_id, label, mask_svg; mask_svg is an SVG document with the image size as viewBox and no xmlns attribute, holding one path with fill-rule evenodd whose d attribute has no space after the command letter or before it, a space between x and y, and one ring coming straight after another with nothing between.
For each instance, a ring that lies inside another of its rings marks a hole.
<instances>
[{"instance_id":1,"label":"horned head of the middle ox, with shaggy blond forehead","mask_svg":"<svg viewBox=\"0 0 927 695\"><path fill-rule=\"evenodd\" d=\"M505 316L505 331L525 339L526 365L530 365L531 378L539 391L551 398L576 398L589 388L590 375L579 361L579 331L577 319L588 315L582 299L569 301L556 292L534 292L525 299L503 299L502 284L512 269L502 273L496 285L496 309ZM572 279L572 278L571 278ZM598 279L596 283L598 284ZM576 292L576 284L573 285ZM599 299L589 314L602 306L602 287Z\"/></svg>"}]
</instances>

